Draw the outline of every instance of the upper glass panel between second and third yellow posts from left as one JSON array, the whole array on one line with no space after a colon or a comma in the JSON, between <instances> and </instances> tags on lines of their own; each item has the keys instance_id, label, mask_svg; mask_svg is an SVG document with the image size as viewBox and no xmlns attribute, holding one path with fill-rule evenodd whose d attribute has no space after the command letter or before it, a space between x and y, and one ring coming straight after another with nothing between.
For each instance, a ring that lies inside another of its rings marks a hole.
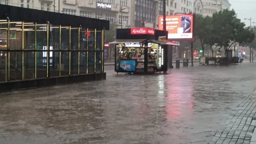
<instances>
[{"instance_id":1,"label":"upper glass panel between second and third yellow posts from left","mask_svg":"<svg viewBox=\"0 0 256 144\"><path fill-rule=\"evenodd\" d=\"M35 49L35 25L24 24L24 49Z\"/></svg>"}]
</instances>

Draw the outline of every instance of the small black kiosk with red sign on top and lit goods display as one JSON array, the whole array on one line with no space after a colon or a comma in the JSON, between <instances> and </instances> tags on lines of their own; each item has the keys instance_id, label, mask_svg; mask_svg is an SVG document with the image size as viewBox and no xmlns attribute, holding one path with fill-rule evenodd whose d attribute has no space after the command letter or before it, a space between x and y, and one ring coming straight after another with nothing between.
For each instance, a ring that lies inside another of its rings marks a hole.
<instances>
[{"instance_id":1,"label":"small black kiosk with red sign on top and lit goods display","mask_svg":"<svg viewBox=\"0 0 256 144\"><path fill-rule=\"evenodd\" d=\"M167 71L167 32L151 28L117 29L115 71L117 73L156 73Z\"/></svg>"}]
</instances>

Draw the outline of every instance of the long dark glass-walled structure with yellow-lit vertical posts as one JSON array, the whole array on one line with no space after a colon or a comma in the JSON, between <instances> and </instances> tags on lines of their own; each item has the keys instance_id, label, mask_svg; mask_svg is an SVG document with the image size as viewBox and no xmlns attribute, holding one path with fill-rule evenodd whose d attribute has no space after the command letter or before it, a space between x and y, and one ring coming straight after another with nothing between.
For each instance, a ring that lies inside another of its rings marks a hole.
<instances>
[{"instance_id":1,"label":"long dark glass-walled structure with yellow-lit vertical posts","mask_svg":"<svg viewBox=\"0 0 256 144\"><path fill-rule=\"evenodd\" d=\"M105 79L109 21L0 5L0 90Z\"/></svg>"}]
</instances>

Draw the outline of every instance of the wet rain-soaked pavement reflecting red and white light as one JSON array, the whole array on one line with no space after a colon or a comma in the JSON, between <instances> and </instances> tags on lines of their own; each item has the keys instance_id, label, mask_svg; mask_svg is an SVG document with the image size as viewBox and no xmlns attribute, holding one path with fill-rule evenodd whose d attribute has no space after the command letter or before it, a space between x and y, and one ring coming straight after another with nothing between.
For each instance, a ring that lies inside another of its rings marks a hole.
<instances>
[{"instance_id":1,"label":"wet rain-soaked pavement reflecting red and white light","mask_svg":"<svg viewBox=\"0 0 256 144\"><path fill-rule=\"evenodd\" d=\"M105 71L103 81L0 93L0 143L250 142L256 63Z\"/></svg>"}]
</instances>

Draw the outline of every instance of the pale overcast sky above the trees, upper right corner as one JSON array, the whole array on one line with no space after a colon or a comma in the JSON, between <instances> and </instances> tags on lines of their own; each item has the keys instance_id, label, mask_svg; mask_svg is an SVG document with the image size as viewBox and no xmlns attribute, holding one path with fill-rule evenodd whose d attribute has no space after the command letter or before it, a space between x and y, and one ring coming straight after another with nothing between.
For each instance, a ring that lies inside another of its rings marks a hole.
<instances>
[{"instance_id":1,"label":"pale overcast sky above the trees, upper right corner","mask_svg":"<svg viewBox=\"0 0 256 144\"><path fill-rule=\"evenodd\" d=\"M229 0L229 3L231 4L230 8L236 11L237 18L241 19L241 22L245 22L249 27L250 20L247 19L251 17L252 27L256 26L256 0Z\"/></svg>"}]
</instances>

